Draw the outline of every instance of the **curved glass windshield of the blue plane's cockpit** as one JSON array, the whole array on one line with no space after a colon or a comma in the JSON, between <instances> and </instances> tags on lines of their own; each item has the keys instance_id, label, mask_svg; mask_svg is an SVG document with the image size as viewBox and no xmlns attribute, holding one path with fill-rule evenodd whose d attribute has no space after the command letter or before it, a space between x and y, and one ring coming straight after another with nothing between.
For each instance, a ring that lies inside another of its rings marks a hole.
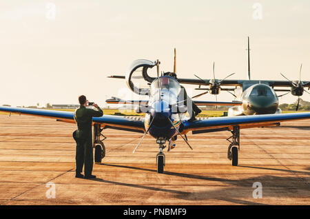
<instances>
[{"instance_id":1,"label":"curved glass windshield of the blue plane's cockpit","mask_svg":"<svg viewBox=\"0 0 310 219\"><path fill-rule=\"evenodd\" d=\"M169 76L161 76L159 78L159 86L161 87L161 92L172 92L174 95L178 96L181 87L176 79ZM155 79L151 84L151 94L158 92L158 79Z\"/></svg>"}]
</instances>

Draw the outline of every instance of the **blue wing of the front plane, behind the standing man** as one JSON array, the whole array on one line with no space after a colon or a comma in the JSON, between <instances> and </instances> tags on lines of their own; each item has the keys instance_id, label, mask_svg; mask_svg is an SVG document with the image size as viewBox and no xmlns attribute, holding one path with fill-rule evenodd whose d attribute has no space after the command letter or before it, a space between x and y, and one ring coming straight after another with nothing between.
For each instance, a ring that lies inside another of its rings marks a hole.
<instances>
[{"instance_id":1,"label":"blue wing of the front plane, behind the standing man","mask_svg":"<svg viewBox=\"0 0 310 219\"><path fill-rule=\"evenodd\" d=\"M74 112L65 112L58 110L39 110L20 107L0 107L1 112L10 112L13 114L25 114L29 116L41 116L45 118L56 118L56 121L65 123L75 123ZM129 132L145 132L144 118L128 118L124 116L103 115L93 117L94 124L101 124L103 129L121 129Z\"/></svg>"}]
</instances>

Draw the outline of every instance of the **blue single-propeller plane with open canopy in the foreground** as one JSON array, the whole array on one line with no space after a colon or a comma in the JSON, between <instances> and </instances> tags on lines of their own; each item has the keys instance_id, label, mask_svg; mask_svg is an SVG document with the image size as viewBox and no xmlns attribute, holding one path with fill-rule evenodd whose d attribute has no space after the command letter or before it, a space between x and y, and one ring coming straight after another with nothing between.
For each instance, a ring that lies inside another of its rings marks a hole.
<instances>
[{"instance_id":1,"label":"blue single-propeller plane with open canopy in the foreground","mask_svg":"<svg viewBox=\"0 0 310 219\"><path fill-rule=\"evenodd\" d=\"M157 78L152 81L150 87L144 90L138 89L131 81L132 74L138 69L147 70L149 67L157 67ZM159 146L159 153L156 155L156 164L158 173L163 173L165 166L165 144L171 143L180 135L187 143L190 149L193 149L187 141L186 134L201 134L206 132L231 132L231 137L228 138L230 144L227 149L227 158L231 160L232 165L238 165L238 150L240 149L240 129L250 127L263 127L267 125L276 125L279 122L293 121L301 119L309 119L310 113L293 113L293 114L267 114L258 116L236 116L236 117L218 117L207 118L200 121L188 121L185 116L186 107L184 100L180 99L181 92L180 83L170 76L159 76L159 61L152 62L147 60L134 61L127 72L127 85L134 92L139 94L147 94L148 101L134 102L127 101L126 103L137 104L138 107L145 107L147 113L145 118L132 119L123 116L108 116L93 118L94 126L94 143L95 162L100 163L105 156L105 147L103 145L102 132L104 129L120 129L128 132L144 133L134 152L141 144L141 141L150 134L156 139L156 144ZM187 103L188 104L188 103ZM208 104L207 101L204 103ZM211 102L211 104L213 104ZM233 104L233 103L231 103ZM19 107L0 107L2 112L10 112L17 114L27 114L31 116L43 116L48 118L56 118L56 121L75 123L74 112L63 112L54 110L37 110ZM104 136L103 136L104 137ZM168 149L169 149L168 147Z\"/></svg>"}]
</instances>

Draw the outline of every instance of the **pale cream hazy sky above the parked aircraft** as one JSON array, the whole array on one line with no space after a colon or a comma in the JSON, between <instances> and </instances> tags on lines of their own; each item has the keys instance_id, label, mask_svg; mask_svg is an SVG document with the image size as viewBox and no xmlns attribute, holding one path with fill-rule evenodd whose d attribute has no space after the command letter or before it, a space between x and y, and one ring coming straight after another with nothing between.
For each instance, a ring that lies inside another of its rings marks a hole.
<instances>
[{"instance_id":1,"label":"pale cream hazy sky above the parked aircraft","mask_svg":"<svg viewBox=\"0 0 310 219\"><path fill-rule=\"evenodd\" d=\"M111 96L131 98L124 80L107 76L124 75L136 59L159 59L161 71L172 71L174 48L178 77L211 79L215 62L218 79L247 79L247 36L251 79L298 80L302 63L302 80L310 81L309 26L308 0L3 0L0 105L78 104L81 94L100 106ZM287 94L280 103L296 99Z\"/></svg>"}]
</instances>

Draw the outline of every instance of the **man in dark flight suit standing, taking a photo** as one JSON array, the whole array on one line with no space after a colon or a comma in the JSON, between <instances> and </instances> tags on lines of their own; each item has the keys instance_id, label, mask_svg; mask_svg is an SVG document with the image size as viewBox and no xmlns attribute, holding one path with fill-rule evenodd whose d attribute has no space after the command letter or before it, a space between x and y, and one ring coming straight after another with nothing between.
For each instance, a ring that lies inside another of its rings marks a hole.
<instances>
[{"instance_id":1,"label":"man in dark flight suit standing, taking a photo","mask_svg":"<svg viewBox=\"0 0 310 219\"><path fill-rule=\"evenodd\" d=\"M97 110L86 108L89 105L84 95L79 96L80 107L74 112L74 120L78 129L73 132L73 138L76 140L76 178L96 178L92 175L93 149L92 149L92 117L103 116L103 111L96 103L92 105ZM84 167L84 174L81 174Z\"/></svg>"}]
</instances>

